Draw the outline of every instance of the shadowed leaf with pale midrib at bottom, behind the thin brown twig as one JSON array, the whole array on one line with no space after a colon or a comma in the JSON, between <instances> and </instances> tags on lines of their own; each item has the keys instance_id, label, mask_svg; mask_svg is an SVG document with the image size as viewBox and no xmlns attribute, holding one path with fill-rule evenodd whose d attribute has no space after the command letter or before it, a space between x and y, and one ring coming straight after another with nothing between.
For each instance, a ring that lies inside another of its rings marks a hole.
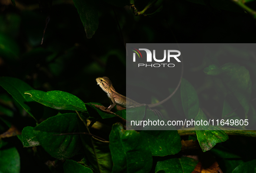
<instances>
[{"instance_id":1,"label":"shadowed leaf with pale midrib at bottom, behind the thin brown twig","mask_svg":"<svg viewBox=\"0 0 256 173\"><path fill-rule=\"evenodd\" d=\"M86 122L78 119L78 127L80 132L90 133L86 126ZM89 160L90 167L99 173L111 173L112 160L108 141L101 141L89 135L80 135L83 142L84 152Z\"/></svg>"}]
</instances>

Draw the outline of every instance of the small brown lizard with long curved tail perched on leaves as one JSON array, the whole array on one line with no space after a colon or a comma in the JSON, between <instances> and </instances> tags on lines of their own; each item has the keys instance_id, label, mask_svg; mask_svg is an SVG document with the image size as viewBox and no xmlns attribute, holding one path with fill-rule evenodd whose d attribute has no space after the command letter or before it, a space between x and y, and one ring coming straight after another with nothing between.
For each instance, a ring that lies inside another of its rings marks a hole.
<instances>
[{"instance_id":1,"label":"small brown lizard with long curved tail perched on leaves","mask_svg":"<svg viewBox=\"0 0 256 173\"><path fill-rule=\"evenodd\" d=\"M149 108L152 108L155 106L159 106L162 103L165 103L167 100L169 100L176 93L179 86L181 85L182 76L183 76L183 62L181 61L181 77L177 87L172 92L172 94L158 103L150 104L147 106L149 106ZM105 108L104 106L97 106L97 108L100 109L101 111L110 113L110 110L113 109L113 107L116 105L122 106L123 108L135 108L135 107L146 105L145 103L137 103L136 101L129 99L126 96L121 95L120 93L117 93L117 91L113 87L111 80L108 77L97 77L96 82L97 82L97 85L99 85L100 88L105 93L107 93L107 96L110 99L110 106L108 108Z\"/></svg>"}]
</instances>

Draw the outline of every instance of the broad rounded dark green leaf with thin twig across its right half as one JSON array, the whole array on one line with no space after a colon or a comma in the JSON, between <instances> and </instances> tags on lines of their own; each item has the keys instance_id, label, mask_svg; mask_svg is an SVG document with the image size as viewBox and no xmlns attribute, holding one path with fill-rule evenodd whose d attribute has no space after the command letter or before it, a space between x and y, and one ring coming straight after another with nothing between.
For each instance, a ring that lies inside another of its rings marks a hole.
<instances>
[{"instance_id":1,"label":"broad rounded dark green leaf with thin twig across its right half","mask_svg":"<svg viewBox=\"0 0 256 173\"><path fill-rule=\"evenodd\" d=\"M65 160L73 157L81 148L78 135L59 135L78 132L76 116L75 113L59 114L34 128L37 140L52 157Z\"/></svg>"}]
</instances>

